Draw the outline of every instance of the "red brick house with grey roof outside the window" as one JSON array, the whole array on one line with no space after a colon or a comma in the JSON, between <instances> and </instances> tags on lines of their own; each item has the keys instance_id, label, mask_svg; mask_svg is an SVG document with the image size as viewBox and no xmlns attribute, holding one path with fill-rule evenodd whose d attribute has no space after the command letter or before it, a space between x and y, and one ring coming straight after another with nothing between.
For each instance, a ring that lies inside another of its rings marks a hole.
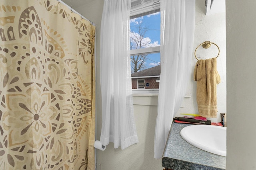
<instances>
[{"instance_id":1,"label":"red brick house with grey roof outside the window","mask_svg":"<svg viewBox=\"0 0 256 170\"><path fill-rule=\"evenodd\" d=\"M160 80L160 65L132 74L132 89L157 89Z\"/></svg>"}]
</instances>

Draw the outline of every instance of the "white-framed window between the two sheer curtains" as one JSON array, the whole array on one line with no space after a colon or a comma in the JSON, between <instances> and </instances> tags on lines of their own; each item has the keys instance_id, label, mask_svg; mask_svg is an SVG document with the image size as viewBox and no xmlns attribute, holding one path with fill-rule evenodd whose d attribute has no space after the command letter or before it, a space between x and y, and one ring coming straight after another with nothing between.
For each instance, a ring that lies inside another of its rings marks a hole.
<instances>
[{"instance_id":1,"label":"white-framed window between the two sheer curtains","mask_svg":"<svg viewBox=\"0 0 256 170\"><path fill-rule=\"evenodd\" d=\"M160 78L160 0L132 0L130 50L132 89L158 89ZM138 83L146 85L142 87ZM158 93L158 90L156 91Z\"/></svg>"}]
</instances>

